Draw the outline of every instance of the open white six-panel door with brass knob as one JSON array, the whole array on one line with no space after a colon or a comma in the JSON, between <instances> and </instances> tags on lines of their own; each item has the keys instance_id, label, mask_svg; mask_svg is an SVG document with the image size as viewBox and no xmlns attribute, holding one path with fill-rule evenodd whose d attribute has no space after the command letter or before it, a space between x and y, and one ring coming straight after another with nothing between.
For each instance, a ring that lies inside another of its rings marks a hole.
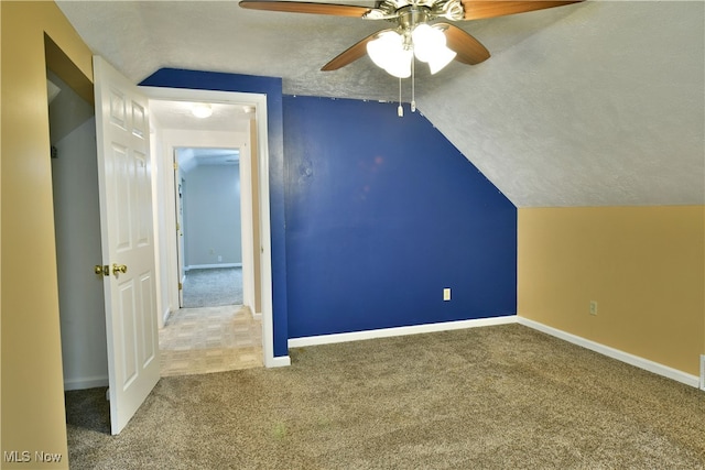
<instances>
[{"instance_id":1,"label":"open white six-panel door with brass knob","mask_svg":"<svg viewBox=\"0 0 705 470\"><path fill-rule=\"evenodd\" d=\"M160 378L148 100L94 57L110 427L128 424Z\"/></svg>"}]
</instances>

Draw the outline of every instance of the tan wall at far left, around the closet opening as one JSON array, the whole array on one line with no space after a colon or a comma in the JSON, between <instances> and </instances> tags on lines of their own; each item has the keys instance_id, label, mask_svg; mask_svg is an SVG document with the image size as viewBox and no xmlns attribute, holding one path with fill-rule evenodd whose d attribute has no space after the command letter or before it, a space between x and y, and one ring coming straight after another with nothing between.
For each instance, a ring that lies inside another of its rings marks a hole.
<instances>
[{"instance_id":1,"label":"tan wall at far left, around the closet opening","mask_svg":"<svg viewBox=\"0 0 705 470\"><path fill-rule=\"evenodd\" d=\"M1 451L61 453L41 467L67 468L44 33L77 66L57 64L66 81L89 85L91 53L53 2L0 9ZM37 463L2 463L15 467Z\"/></svg>"}]
</instances>

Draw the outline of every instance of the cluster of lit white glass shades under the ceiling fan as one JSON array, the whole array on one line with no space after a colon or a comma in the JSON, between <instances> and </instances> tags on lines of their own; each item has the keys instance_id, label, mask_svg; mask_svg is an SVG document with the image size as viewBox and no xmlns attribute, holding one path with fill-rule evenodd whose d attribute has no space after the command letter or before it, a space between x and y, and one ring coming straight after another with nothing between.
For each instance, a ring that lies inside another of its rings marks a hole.
<instances>
[{"instance_id":1,"label":"cluster of lit white glass shades under the ceiling fan","mask_svg":"<svg viewBox=\"0 0 705 470\"><path fill-rule=\"evenodd\" d=\"M426 23L417 24L411 32L383 31L367 43L367 53L378 67L398 78L411 76L414 56L429 64L431 74L436 74L456 56L446 46L443 31Z\"/></svg>"}]
</instances>

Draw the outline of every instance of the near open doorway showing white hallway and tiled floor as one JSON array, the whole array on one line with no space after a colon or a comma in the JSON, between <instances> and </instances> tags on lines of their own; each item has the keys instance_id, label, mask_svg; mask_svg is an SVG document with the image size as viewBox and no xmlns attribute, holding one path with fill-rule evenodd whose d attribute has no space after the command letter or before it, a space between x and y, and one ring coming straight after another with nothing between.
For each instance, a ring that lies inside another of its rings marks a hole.
<instances>
[{"instance_id":1,"label":"near open doorway showing white hallway and tiled floor","mask_svg":"<svg viewBox=\"0 0 705 470\"><path fill-rule=\"evenodd\" d=\"M258 165L257 133L251 132L256 105L195 98L150 100L153 154L164 168L155 207L164 243L160 277L166 287L163 375L264 364L252 261L261 245L254 230L261 221L253 210L259 185L252 183L258 177L252 170ZM208 108L209 116L196 118L196 107Z\"/></svg>"}]
</instances>

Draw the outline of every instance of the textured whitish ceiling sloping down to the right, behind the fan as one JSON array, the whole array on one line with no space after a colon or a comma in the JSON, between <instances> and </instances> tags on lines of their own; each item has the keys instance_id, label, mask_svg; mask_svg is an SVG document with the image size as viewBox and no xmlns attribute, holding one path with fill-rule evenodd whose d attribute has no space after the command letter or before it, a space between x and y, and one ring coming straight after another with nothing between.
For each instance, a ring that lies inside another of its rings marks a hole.
<instances>
[{"instance_id":1,"label":"textured whitish ceiling sloping down to the right, behind the fan","mask_svg":"<svg viewBox=\"0 0 705 470\"><path fill-rule=\"evenodd\" d=\"M235 0L57 3L134 83L177 67L282 77L289 95L399 97L368 57L319 72L383 21ZM518 207L702 205L704 18L703 1L586 1L460 22L492 56L421 70L417 107Z\"/></svg>"}]
</instances>

